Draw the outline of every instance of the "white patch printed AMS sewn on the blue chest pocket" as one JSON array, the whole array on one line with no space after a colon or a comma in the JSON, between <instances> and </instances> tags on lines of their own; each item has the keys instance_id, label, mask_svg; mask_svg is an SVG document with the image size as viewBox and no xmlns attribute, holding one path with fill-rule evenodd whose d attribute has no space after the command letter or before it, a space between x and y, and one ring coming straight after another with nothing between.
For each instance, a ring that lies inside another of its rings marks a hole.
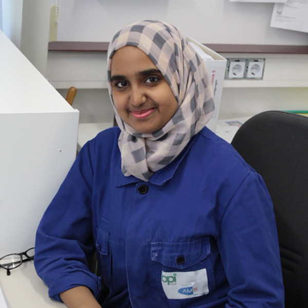
<instances>
[{"instance_id":1,"label":"white patch printed AMS sewn on the blue chest pocket","mask_svg":"<svg viewBox=\"0 0 308 308\"><path fill-rule=\"evenodd\" d=\"M162 271L162 286L169 299L183 299L207 294L206 268L194 272Z\"/></svg>"}]
</instances>

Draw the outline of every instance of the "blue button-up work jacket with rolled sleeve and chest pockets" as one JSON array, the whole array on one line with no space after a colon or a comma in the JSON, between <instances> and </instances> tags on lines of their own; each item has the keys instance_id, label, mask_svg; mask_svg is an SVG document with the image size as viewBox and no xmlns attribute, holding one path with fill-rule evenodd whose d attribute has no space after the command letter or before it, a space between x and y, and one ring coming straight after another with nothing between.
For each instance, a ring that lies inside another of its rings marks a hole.
<instances>
[{"instance_id":1,"label":"blue button-up work jacket with rolled sleeve and chest pockets","mask_svg":"<svg viewBox=\"0 0 308 308\"><path fill-rule=\"evenodd\" d=\"M85 285L107 308L283 307L260 175L204 128L148 182L125 177L119 133L82 148L38 226L34 262L49 296ZM100 277L87 266L95 249Z\"/></svg>"}]
</instances>

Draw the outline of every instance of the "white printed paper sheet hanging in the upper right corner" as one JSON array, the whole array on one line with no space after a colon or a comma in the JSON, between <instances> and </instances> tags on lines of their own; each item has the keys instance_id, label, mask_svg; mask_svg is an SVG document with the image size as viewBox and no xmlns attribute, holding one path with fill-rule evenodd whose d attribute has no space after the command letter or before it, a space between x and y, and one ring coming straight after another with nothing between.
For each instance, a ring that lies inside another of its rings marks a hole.
<instances>
[{"instance_id":1,"label":"white printed paper sheet hanging in the upper right corner","mask_svg":"<svg viewBox=\"0 0 308 308\"><path fill-rule=\"evenodd\" d=\"M287 0L274 6L271 27L308 32L308 0Z\"/></svg>"}]
</instances>

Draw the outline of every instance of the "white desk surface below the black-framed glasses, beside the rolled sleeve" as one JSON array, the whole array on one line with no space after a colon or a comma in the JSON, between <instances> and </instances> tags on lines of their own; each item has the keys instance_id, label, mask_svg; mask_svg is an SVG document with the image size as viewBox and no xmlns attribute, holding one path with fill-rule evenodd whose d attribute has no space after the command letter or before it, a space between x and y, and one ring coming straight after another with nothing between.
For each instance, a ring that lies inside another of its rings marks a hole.
<instances>
[{"instance_id":1,"label":"white desk surface below the black-framed glasses, beside the rolled sleeve","mask_svg":"<svg viewBox=\"0 0 308 308\"><path fill-rule=\"evenodd\" d=\"M48 297L48 287L37 276L32 261L12 269L10 276L7 276L5 269L0 268L0 286L8 308L66 307L65 304Z\"/></svg>"}]
</instances>

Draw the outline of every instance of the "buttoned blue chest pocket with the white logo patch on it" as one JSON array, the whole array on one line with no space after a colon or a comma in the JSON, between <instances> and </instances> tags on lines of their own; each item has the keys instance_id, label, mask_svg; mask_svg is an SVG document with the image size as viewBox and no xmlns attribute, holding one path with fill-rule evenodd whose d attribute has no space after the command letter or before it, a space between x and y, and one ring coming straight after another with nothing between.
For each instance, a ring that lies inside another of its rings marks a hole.
<instances>
[{"instance_id":1,"label":"buttoned blue chest pocket with the white logo patch on it","mask_svg":"<svg viewBox=\"0 0 308 308\"><path fill-rule=\"evenodd\" d=\"M202 300L215 288L208 237L189 242L152 242L151 259L157 264L159 290L171 306L188 307L189 302Z\"/></svg>"}]
</instances>

